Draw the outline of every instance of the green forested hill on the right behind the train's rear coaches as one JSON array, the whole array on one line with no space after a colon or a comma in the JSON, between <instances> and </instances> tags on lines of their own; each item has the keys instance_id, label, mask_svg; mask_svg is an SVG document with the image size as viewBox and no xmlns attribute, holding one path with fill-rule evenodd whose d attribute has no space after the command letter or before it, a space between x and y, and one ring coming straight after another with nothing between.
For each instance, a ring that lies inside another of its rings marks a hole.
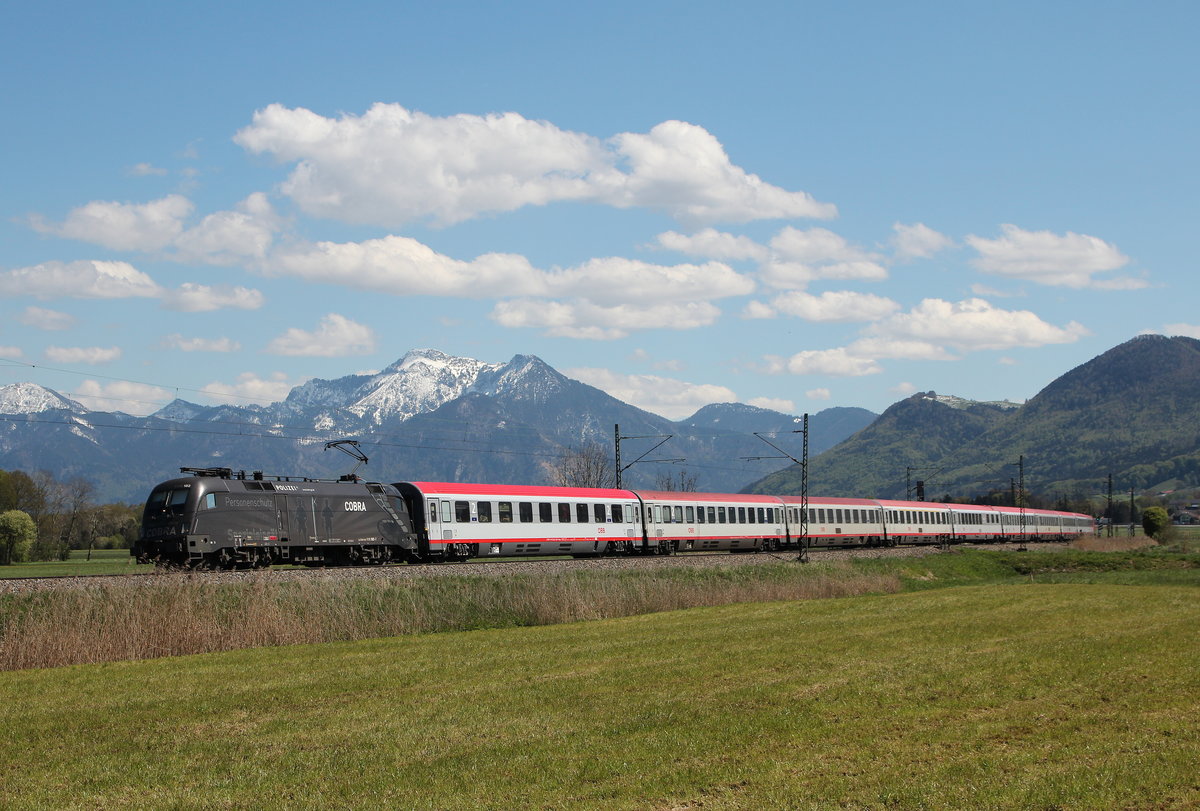
<instances>
[{"instance_id":1,"label":"green forested hill on the right behind the train's rear coaches","mask_svg":"<svg viewBox=\"0 0 1200 811\"><path fill-rule=\"evenodd\" d=\"M926 492L1006 489L1025 457L1031 492L1099 493L1111 473L1138 489L1200 482L1200 341L1139 336L1063 374L1024 407L947 406L914 395L815 457L809 489L902 497L905 468ZM751 486L797 492L794 469Z\"/></svg>"}]
</instances>

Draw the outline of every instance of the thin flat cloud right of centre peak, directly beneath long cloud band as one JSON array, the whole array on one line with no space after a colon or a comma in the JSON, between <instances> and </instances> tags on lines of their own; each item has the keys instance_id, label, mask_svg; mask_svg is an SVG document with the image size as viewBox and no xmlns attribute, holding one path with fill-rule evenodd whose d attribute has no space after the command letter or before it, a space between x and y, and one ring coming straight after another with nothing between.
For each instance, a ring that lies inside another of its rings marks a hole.
<instances>
[{"instance_id":1,"label":"thin flat cloud right of centre peak, directly beneath long cloud band","mask_svg":"<svg viewBox=\"0 0 1200 811\"><path fill-rule=\"evenodd\" d=\"M588 301L517 299L500 301L491 318L502 326L541 328L563 338L612 341L637 330L690 330L709 326L721 311L706 301L594 305Z\"/></svg>"}]
</instances>

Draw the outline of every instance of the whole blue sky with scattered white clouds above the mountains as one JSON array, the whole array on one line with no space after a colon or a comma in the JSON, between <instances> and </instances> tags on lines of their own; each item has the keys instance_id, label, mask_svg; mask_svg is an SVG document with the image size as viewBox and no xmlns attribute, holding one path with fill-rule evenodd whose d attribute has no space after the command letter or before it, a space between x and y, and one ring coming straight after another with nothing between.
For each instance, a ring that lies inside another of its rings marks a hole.
<instances>
[{"instance_id":1,"label":"whole blue sky with scattered white clouds above the mountains","mask_svg":"<svg viewBox=\"0 0 1200 811\"><path fill-rule=\"evenodd\" d=\"M1200 337L1195 2L55 2L0 24L0 385L410 349L647 410L1021 402Z\"/></svg>"}]
</instances>

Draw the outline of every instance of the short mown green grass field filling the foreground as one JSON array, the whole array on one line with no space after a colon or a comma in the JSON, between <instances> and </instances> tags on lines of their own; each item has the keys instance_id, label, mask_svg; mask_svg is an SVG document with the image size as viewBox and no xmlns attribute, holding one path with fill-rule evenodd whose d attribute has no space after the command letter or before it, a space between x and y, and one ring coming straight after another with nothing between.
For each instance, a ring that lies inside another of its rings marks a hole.
<instances>
[{"instance_id":1,"label":"short mown green grass field filling the foreground","mask_svg":"<svg viewBox=\"0 0 1200 811\"><path fill-rule=\"evenodd\" d=\"M14 809L1194 807L1192 583L0 673L0 785Z\"/></svg>"}]
</instances>

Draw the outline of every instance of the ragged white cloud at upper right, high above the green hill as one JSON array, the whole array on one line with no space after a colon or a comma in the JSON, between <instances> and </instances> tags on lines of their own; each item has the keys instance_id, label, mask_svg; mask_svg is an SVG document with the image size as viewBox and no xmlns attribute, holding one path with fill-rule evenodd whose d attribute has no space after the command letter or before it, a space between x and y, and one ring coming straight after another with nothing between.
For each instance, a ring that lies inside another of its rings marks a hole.
<instances>
[{"instance_id":1,"label":"ragged white cloud at upper right, high above the green hill","mask_svg":"<svg viewBox=\"0 0 1200 811\"><path fill-rule=\"evenodd\" d=\"M1063 235L1048 230L1028 232L1016 226L1001 226L1003 235L989 240L970 235L967 244L979 257L972 260L977 269L1025 278L1039 284L1070 288L1136 289L1146 287L1136 278L1092 278L1094 274L1123 268L1129 257L1104 240L1067 232Z\"/></svg>"}]
</instances>

